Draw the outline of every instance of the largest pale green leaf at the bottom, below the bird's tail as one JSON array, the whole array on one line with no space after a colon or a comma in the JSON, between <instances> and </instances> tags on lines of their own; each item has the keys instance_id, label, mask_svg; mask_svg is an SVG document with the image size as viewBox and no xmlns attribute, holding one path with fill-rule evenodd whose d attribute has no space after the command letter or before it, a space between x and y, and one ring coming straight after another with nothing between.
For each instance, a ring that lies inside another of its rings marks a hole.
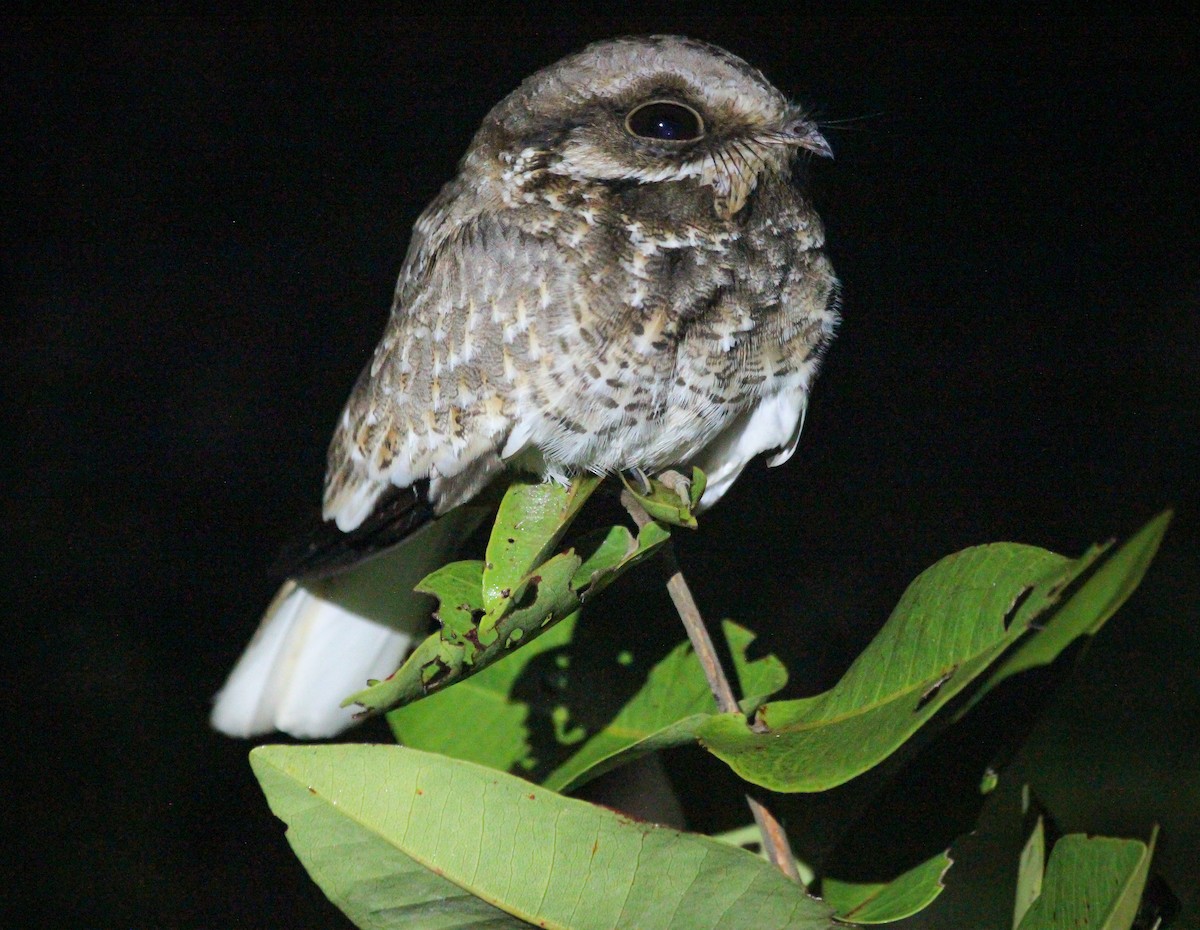
<instances>
[{"instance_id":1,"label":"largest pale green leaf at the bottom, below the bird's tail","mask_svg":"<svg viewBox=\"0 0 1200 930\"><path fill-rule=\"evenodd\" d=\"M259 746L251 764L296 856L360 926L520 926L499 912L564 930L835 926L751 853L481 766L354 744Z\"/></svg>"}]
</instances>

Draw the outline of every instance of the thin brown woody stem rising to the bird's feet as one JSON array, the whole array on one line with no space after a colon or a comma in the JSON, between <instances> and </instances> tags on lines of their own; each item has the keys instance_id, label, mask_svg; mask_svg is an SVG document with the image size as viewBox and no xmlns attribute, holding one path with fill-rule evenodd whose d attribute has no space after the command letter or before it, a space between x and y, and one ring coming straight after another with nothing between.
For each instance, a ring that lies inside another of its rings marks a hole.
<instances>
[{"instance_id":1,"label":"thin brown woody stem rising to the bird's feet","mask_svg":"<svg viewBox=\"0 0 1200 930\"><path fill-rule=\"evenodd\" d=\"M620 503L629 511L630 517L632 517L638 529L650 522L649 514L646 512L644 508L628 491L620 492ZM684 578L683 571L679 569L679 563L674 554L674 544L671 540L667 540L662 546L662 560L666 565L667 593L671 595L671 601L679 612L679 619L683 620L684 629L688 631L688 638L691 640L691 647L700 660L700 666L704 670L709 690L712 690L713 697L716 698L716 708L722 714L736 714L740 710L738 701L733 696L730 679L721 667L721 660L716 655L713 638L708 635L708 628L704 625L704 618L700 613L700 607L696 606L696 599L691 596L691 588L688 587L688 580ZM755 823L758 824L758 833L762 835L762 847L767 852L767 858L784 875L793 882L800 883L800 875L796 869L796 857L792 854L791 844L788 844L787 834L775 818L775 815L764 804L755 800L749 794L746 794L746 804L750 805L750 812L754 815Z\"/></svg>"}]
</instances>

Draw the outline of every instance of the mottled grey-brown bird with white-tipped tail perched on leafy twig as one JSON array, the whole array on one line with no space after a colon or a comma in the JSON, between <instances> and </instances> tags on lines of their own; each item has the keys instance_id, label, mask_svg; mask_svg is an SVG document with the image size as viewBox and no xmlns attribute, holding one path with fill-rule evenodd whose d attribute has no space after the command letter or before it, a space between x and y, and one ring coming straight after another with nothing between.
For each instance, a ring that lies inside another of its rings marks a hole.
<instances>
[{"instance_id":1,"label":"mottled grey-brown bird with white-tipped tail perched on leafy twig","mask_svg":"<svg viewBox=\"0 0 1200 930\"><path fill-rule=\"evenodd\" d=\"M341 700L428 624L413 584L505 468L698 466L707 506L755 456L786 461L838 323L804 150L830 154L803 109L676 36L589 46L496 106L416 221L329 449L324 536L212 724L348 726Z\"/></svg>"}]
</instances>

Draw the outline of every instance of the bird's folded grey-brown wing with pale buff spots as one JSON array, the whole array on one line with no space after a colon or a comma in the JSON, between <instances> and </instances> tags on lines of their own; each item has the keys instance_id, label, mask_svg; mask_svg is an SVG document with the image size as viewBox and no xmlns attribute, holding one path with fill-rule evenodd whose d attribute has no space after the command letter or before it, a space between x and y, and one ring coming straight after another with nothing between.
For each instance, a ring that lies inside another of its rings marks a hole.
<instances>
[{"instance_id":1,"label":"bird's folded grey-brown wing with pale buff spots","mask_svg":"<svg viewBox=\"0 0 1200 930\"><path fill-rule=\"evenodd\" d=\"M553 244L497 220L418 252L330 444L323 512L343 533L390 488L427 479L440 514L487 485L528 400L530 323L563 293Z\"/></svg>"}]
</instances>

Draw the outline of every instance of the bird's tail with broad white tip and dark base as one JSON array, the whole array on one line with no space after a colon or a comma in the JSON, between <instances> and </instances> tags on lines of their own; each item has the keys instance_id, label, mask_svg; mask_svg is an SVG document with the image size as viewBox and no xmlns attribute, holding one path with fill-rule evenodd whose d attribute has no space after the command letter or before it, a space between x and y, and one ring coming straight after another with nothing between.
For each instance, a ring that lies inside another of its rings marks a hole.
<instances>
[{"instance_id":1,"label":"bird's tail with broad white tip and dark base","mask_svg":"<svg viewBox=\"0 0 1200 930\"><path fill-rule=\"evenodd\" d=\"M281 730L300 739L352 726L354 709L342 701L395 672L428 629L433 600L413 587L478 521L460 508L343 572L286 582L217 692L212 726L234 737Z\"/></svg>"}]
</instances>

